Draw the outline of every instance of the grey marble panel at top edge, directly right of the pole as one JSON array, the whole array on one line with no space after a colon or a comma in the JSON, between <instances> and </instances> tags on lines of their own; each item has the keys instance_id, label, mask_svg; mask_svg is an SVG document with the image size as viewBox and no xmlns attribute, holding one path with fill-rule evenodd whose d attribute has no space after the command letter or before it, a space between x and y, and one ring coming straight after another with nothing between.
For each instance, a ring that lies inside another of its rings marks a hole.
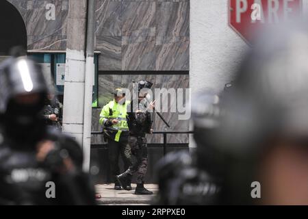
<instances>
[{"instance_id":1,"label":"grey marble panel at top edge, directly right of the pole","mask_svg":"<svg viewBox=\"0 0 308 219\"><path fill-rule=\"evenodd\" d=\"M121 1L97 1L97 36L121 36Z\"/></svg>"}]
</instances>

